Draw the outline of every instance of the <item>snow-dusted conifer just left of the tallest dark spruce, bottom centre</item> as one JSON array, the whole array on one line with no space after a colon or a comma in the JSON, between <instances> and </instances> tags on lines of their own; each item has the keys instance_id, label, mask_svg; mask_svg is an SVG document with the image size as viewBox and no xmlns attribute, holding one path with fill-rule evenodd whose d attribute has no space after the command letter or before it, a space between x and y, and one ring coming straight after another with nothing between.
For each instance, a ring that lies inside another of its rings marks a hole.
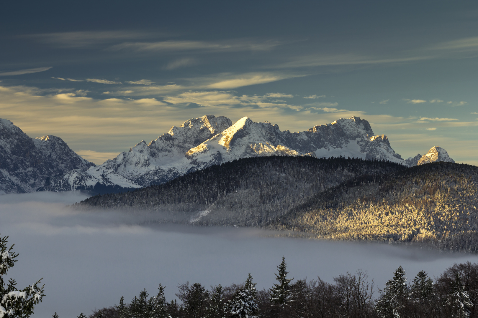
<instances>
[{"instance_id":1,"label":"snow-dusted conifer just left of the tallest dark spruce, bottom centre","mask_svg":"<svg viewBox=\"0 0 478 318\"><path fill-rule=\"evenodd\" d=\"M256 283L252 283L252 275L249 274L244 287L236 289L232 300L229 300L231 314L239 318L259 317L256 295Z\"/></svg>"}]
</instances>

